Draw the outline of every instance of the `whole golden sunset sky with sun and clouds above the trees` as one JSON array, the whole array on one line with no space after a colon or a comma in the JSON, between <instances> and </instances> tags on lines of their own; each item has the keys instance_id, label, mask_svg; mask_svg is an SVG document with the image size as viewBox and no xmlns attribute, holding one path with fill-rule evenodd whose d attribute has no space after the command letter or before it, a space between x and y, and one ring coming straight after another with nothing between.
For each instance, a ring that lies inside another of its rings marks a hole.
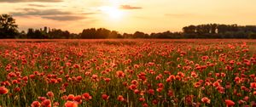
<instances>
[{"instance_id":1,"label":"whole golden sunset sky with sun and clouds above the trees","mask_svg":"<svg viewBox=\"0 0 256 107\"><path fill-rule=\"evenodd\" d=\"M0 0L20 31L87 28L133 33L182 31L208 23L256 25L256 0Z\"/></svg>"}]
</instances>

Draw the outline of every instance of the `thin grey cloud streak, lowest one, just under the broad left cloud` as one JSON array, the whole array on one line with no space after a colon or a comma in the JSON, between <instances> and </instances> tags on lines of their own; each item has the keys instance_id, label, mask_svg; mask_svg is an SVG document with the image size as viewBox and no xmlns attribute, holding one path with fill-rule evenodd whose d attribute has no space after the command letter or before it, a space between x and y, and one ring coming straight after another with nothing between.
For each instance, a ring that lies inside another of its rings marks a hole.
<instances>
[{"instance_id":1,"label":"thin grey cloud streak, lowest one, just under the broad left cloud","mask_svg":"<svg viewBox=\"0 0 256 107\"><path fill-rule=\"evenodd\" d=\"M63 16L43 16L43 19L48 20L59 20L59 21L68 21L68 20L83 20L85 19L82 16L70 16L70 15L63 15Z\"/></svg>"}]
</instances>

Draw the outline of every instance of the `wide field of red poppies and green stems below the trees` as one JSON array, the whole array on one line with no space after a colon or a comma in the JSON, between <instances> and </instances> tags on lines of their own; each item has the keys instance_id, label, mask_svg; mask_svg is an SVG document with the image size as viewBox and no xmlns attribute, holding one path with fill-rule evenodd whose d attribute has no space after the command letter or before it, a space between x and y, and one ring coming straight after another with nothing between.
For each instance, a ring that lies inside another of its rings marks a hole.
<instances>
[{"instance_id":1,"label":"wide field of red poppies and green stems below the trees","mask_svg":"<svg viewBox=\"0 0 256 107\"><path fill-rule=\"evenodd\" d=\"M255 72L255 40L1 40L0 106L256 106Z\"/></svg>"}]
</instances>

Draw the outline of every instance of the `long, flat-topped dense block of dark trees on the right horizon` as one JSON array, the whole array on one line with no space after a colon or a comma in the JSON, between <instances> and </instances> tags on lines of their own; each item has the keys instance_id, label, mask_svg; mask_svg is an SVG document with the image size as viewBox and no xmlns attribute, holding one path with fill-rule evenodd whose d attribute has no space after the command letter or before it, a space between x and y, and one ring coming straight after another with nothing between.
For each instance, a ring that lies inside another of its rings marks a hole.
<instances>
[{"instance_id":1,"label":"long, flat-topped dense block of dark trees on the right horizon","mask_svg":"<svg viewBox=\"0 0 256 107\"><path fill-rule=\"evenodd\" d=\"M256 38L256 25L189 25L183 27L189 38Z\"/></svg>"}]
</instances>

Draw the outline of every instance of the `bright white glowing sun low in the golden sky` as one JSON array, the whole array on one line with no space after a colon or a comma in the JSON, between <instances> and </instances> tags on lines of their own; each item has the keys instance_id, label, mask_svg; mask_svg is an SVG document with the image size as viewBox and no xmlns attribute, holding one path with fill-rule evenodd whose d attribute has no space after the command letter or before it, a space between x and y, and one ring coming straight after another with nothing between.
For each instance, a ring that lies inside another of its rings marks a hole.
<instances>
[{"instance_id":1,"label":"bright white glowing sun low in the golden sky","mask_svg":"<svg viewBox=\"0 0 256 107\"><path fill-rule=\"evenodd\" d=\"M123 17L124 12L117 7L102 7L100 8L104 14L108 14L108 17L113 20L119 20Z\"/></svg>"}]
</instances>

